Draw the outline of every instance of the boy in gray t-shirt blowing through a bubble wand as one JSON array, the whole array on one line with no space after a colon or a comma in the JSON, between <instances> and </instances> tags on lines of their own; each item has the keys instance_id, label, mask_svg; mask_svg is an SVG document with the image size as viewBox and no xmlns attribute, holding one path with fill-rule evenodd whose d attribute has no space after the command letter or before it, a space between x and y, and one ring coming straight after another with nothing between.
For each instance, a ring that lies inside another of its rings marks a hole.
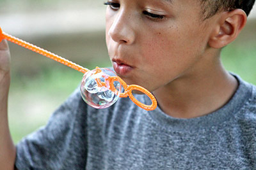
<instances>
[{"instance_id":1,"label":"boy in gray t-shirt blowing through a bubble wand","mask_svg":"<svg viewBox=\"0 0 256 170\"><path fill-rule=\"evenodd\" d=\"M1 169L255 169L256 88L220 62L254 2L108 1L113 68L153 92L159 106L145 111L122 98L95 110L76 90L16 149L6 118L10 55L3 41Z\"/></svg>"}]
</instances>

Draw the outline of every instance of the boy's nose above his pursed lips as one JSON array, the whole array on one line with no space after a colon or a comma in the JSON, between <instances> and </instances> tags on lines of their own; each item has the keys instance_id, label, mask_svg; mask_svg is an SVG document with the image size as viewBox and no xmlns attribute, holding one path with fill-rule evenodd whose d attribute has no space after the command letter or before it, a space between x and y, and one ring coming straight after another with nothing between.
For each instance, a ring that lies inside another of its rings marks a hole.
<instances>
[{"instance_id":1,"label":"boy's nose above his pursed lips","mask_svg":"<svg viewBox=\"0 0 256 170\"><path fill-rule=\"evenodd\" d=\"M135 29L132 27L134 22L131 20L131 15L125 11L118 11L113 17L108 34L117 43L132 44L135 40Z\"/></svg>"}]
</instances>

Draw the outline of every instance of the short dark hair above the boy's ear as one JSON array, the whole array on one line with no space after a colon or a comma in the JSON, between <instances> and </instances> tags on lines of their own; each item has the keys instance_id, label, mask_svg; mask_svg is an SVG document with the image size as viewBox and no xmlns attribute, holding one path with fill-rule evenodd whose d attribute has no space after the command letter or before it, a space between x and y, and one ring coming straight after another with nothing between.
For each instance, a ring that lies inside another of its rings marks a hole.
<instances>
[{"instance_id":1,"label":"short dark hair above the boy's ear","mask_svg":"<svg viewBox=\"0 0 256 170\"><path fill-rule=\"evenodd\" d=\"M202 15L204 18L210 18L218 11L232 11L236 9L244 10L248 16L252 10L255 0L200 0L202 3Z\"/></svg>"}]
</instances>

